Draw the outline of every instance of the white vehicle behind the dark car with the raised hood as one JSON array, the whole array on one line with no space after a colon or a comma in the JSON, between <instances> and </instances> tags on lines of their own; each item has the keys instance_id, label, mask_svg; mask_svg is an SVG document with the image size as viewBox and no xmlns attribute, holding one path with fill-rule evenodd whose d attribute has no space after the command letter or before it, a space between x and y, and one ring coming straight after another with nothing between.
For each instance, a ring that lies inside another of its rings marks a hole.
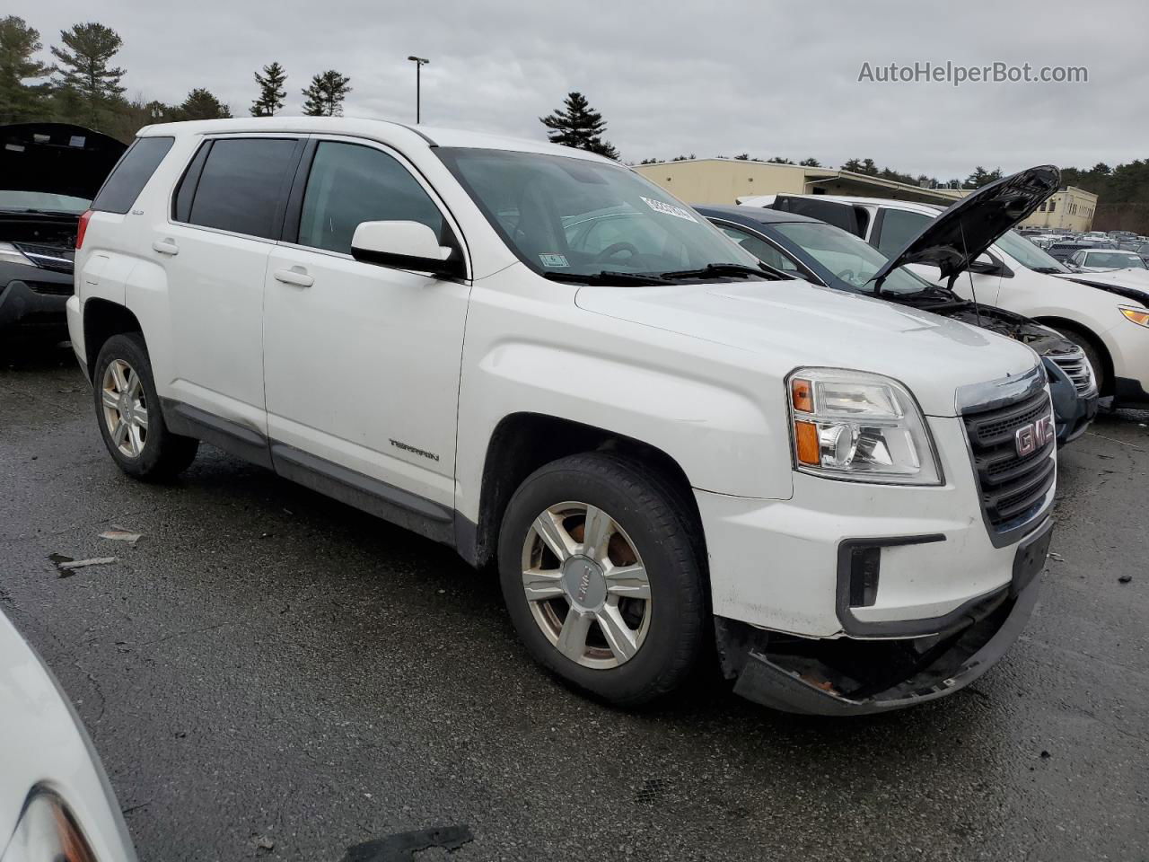
<instances>
[{"instance_id":1,"label":"white vehicle behind the dark car with the raised hood","mask_svg":"<svg viewBox=\"0 0 1149 862\"><path fill-rule=\"evenodd\" d=\"M888 257L944 211L913 201L830 194L766 194L738 202L836 224ZM936 267L910 269L941 280ZM1075 272L1016 231L1007 231L950 286L965 299L1016 311L1062 332L1086 352L1103 398L1111 398L1115 407L1144 408L1149 405L1147 272Z\"/></svg>"}]
</instances>

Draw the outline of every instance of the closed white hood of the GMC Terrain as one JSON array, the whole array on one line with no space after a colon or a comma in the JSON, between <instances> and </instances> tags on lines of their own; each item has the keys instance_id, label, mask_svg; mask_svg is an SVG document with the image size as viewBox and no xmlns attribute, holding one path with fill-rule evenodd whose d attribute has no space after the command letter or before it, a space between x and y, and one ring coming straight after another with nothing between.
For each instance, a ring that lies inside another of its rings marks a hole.
<instances>
[{"instance_id":1,"label":"closed white hood of the GMC Terrain","mask_svg":"<svg viewBox=\"0 0 1149 862\"><path fill-rule=\"evenodd\" d=\"M1021 375L1028 347L985 329L805 282L668 287L580 287L579 308L748 354L782 379L800 365L872 371L901 380L921 409L954 416L959 386Z\"/></svg>"}]
</instances>

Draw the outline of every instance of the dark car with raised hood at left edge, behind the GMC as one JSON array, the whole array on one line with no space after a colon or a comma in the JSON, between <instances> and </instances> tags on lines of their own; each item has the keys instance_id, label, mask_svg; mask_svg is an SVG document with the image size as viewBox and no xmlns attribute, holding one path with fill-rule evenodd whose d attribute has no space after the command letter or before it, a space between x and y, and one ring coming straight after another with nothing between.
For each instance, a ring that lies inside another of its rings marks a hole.
<instances>
[{"instance_id":1,"label":"dark car with raised hood at left edge, behind the GMC","mask_svg":"<svg viewBox=\"0 0 1149 862\"><path fill-rule=\"evenodd\" d=\"M79 216L125 148L65 123L0 126L0 330L63 332Z\"/></svg>"}]
</instances>

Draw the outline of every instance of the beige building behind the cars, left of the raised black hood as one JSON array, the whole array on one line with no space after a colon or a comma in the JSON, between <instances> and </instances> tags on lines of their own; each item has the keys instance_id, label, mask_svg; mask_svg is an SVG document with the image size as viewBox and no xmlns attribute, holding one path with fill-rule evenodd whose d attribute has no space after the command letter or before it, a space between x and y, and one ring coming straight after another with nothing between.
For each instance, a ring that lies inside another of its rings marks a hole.
<instances>
[{"instance_id":1,"label":"beige building behind the cars, left of the raised black hood","mask_svg":"<svg viewBox=\"0 0 1149 862\"><path fill-rule=\"evenodd\" d=\"M748 194L849 194L948 207L961 197L954 188L921 188L848 170L737 159L637 164L634 170L687 203L734 203Z\"/></svg>"}]
</instances>

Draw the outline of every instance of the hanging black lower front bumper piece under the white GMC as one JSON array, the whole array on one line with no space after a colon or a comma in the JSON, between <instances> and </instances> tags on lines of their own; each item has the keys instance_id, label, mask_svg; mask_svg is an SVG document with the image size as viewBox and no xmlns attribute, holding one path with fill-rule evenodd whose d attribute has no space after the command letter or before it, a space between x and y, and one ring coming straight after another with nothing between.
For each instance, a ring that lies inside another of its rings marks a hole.
<instances>
[{"instance_id":1,"label":"hanging black lower front bumper piece under the white GMC","mask_svg":"<svg viewBox=\"0 0 1149 862\"><path fill-rule=\"evenodd\" d=\"M927 637L801 638L718 617L723 670L734 693L801 715L866 715L965 687L1005 654L1038 600L1050 524L1018 547L1012 583Z\"/></svg>"}]
</instances>

